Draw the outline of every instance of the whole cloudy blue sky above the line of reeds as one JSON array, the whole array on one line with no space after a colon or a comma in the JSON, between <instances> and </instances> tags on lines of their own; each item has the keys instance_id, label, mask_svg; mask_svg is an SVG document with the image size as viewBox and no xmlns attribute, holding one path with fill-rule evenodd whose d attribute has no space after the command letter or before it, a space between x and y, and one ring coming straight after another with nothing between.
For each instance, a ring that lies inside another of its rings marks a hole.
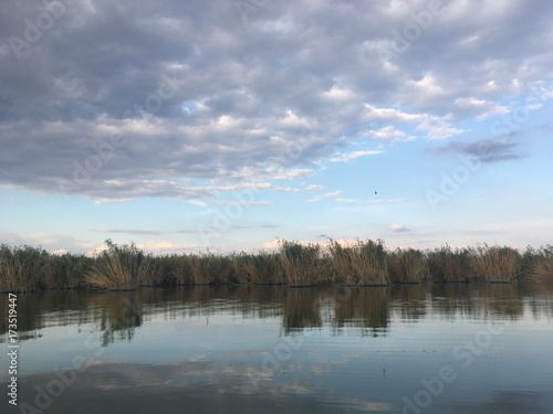
<instances>
[{"instance_id":1,"label":"whole cloudy blue sky above the line of reeds","mask_svg":"<svg viewBox=\"0 0 553 414\"><path fill-rule=\"evenodd\" d=\"M553 2L6 0L0 243L552 244Z\"/></svg>"}]
</instances>

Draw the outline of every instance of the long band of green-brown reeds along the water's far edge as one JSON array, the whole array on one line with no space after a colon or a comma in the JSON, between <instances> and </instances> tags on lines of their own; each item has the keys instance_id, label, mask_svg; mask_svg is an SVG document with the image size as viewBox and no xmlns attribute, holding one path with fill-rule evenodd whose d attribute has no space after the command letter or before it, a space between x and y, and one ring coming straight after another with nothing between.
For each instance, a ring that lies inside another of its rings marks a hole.
<instances>
[{"instance_id":1,"label":"long band of green-brown reeds along the water's far edge","mask_svg":"<svg viewBox=\"0 0 553 414\"><path fill-rule=\"evenodd\" d=\"M44 288L134 290L139 286L336 283L385 286L397 283L553 280L553 246L508 246L389 251L383 241L325 245L281 241L276 252L210 252L154 256L134 244L106 241L95 257L50 254L31 246L0 245L0 291Z\"/></svg>"}]
</instances>

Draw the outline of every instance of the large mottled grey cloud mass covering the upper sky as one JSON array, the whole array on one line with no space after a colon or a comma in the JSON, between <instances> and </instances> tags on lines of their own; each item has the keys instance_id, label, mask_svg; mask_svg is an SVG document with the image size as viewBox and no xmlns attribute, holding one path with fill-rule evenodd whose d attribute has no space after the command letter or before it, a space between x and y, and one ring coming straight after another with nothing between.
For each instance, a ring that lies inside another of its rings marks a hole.
<instances>
[{"instance_id":1,"label":"large mottled grey cloud mass covering the upper sky","mask_svg":"<svg viewBox=\"0 0 553 414\"><path fill-rule=\"evenodd\" d=\"M232 1L91 0L67 6L20 60L9 39L24 39L24 19L44 9L3 2L0 183L63 192L75 163L122 134L127 144L72 193L217 197L206 181L274 181L279 169L316 168L367 129L363 104L430 112L447 130L479 115L457 98L492 102L515 92L514 78L524 88L550 77L553 3L494 12L486 10L492 1L444 3L390 70L375 45L427 1L396 14L378 2L269 2L242 21ZM353 95L325 95L333 87ZM491 153L489 161L514 152Z\"/></svg>"}]
</instances>

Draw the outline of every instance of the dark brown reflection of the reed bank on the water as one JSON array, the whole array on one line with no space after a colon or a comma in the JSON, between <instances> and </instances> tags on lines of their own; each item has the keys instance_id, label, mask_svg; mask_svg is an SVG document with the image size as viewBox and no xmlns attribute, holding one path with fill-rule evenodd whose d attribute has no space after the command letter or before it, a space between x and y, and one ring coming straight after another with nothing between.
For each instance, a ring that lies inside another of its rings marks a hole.
<instances>
[{"instance_id":1,"label":"dark brown reflection of the reed bank on the water","mask_svg":"<svg viewBox=\"0 0 553 414\"><path fill-rule=\"evenodd\" d=\"M8 296L0 295L0 309ZM153 319L190 319L226 312L242 319L280 318L284 335L328 327L333 335L357 329L385 336L392 312L416 322L427 317L518 320L553 316L553 287L534 284L420 284L380 287L286 288L188 286L134 293L49 290L19 295L20 340L36 340L48 327L94 323L104 346L132 340ZM0 342L8 336L0 323Z\"/></svg>"}]
</instances>

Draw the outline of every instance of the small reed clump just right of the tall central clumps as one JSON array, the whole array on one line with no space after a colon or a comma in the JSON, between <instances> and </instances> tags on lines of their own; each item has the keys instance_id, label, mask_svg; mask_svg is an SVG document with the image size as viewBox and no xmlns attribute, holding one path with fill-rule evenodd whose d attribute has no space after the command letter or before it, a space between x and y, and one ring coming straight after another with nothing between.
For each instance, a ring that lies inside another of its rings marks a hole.
<instances>
[{"instance_id":1,"label":"small reed clump just right of the tall central clumps","mask_svg":"<svg viewBox=\"0 0 553 414\"><path fill-rule=\"evenodd\" d=\"M388 254L392 283L419 283L428 276L428 262L420 251L400 250Z\"/></svg>"}]
</instances>

